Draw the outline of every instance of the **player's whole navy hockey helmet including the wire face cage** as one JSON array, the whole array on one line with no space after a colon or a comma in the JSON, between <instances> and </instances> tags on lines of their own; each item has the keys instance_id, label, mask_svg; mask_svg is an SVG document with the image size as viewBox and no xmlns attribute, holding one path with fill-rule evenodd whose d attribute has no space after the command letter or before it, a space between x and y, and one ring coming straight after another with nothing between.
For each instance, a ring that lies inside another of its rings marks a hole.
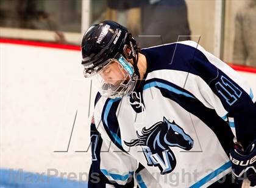
<instances>
[{"instance_id":1,"label":"player's whole navy hockey helmet including the wire face cage","mask_svg":"<svg viewBox=\"0 0 256 188\"><path fill-rule=\"evenodd\" d=\"M139 75L138 48L135 39L125 27L114 21L92 25L85 32L81 47L85 78L99 75L98 73L113 63L117 63L120 69L127 72L115 85L101 79L101 95L116 98L132 92ZM129 59L133 59L133 64L127 61Z\"/></svg>"}]
</instances>

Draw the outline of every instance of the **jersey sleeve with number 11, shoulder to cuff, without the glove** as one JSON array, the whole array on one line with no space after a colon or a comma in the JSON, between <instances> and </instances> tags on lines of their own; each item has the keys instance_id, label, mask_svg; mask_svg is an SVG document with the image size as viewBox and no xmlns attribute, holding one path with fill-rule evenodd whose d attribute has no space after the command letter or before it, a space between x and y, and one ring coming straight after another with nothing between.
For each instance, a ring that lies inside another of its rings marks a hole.
<instances>
[{"instance_id":1,"label":"jersey sleeve with number 11, shoulder to cuff, without the glove","mask_svg":"<svg viewBox=\"0 0 256 188\"><path fill-rule=\"evenodd\" d=\"M229 123L237 141L248 146L256 138L256 104L251 87L229 65L200 45L194 47L197 49L191 69L204 80L205 84L196 81L202 98Z\"/></svg>"}]
</instances>

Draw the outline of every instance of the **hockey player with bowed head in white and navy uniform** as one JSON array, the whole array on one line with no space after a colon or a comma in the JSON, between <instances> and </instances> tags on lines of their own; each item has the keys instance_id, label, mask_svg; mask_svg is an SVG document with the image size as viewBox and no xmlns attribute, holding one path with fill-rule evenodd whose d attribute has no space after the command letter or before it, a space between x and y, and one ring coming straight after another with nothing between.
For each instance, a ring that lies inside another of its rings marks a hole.
<instances>
[{"instance_id":1,"label":"hockey player with bowed head in white and navy uniform","mask_svg":"<svg viewBox=\"0 0 256 188\"><path fill-rule=\"evenodd\" d=\"M256 98L227 64L193 41L140 50L113 21L87 30L82 58L101 83L89 187L255 185Z\"/></svg>"}]
</instances>

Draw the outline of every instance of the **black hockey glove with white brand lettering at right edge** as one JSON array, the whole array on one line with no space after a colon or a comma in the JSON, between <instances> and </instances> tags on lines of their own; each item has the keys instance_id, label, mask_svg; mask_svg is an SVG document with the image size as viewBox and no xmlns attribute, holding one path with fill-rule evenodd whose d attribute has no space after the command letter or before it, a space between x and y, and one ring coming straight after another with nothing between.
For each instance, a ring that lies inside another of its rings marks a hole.
<instances>
[{"instance_id":1,"label":"black hockey glove with white brand lettering at right edge","mask_svg":"<svg viewBox=\"0 0 256 188\"><path fill-rule=\"evenodd\" d=\"M230 150L232 162L232 176L235 182L241 184L244 179L251 181L251 186L256 185L256 139L246 148L241 150L238 145Z\"/></svg>"}]
</instances>

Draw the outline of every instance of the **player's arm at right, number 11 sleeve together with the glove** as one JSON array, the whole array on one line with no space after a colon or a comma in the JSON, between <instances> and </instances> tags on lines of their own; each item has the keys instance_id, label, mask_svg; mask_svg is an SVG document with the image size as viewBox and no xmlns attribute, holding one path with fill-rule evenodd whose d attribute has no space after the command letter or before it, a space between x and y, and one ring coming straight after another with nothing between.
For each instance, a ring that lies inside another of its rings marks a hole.
<instances>
[{"instance_id":1,"label":"player's arm at right, number 11 sleeve together with the glove","mask_svg":"<svg viewBox=\"0 0 256 188\"><path fill-rule=\"evenodd\" d=\"M235 147L230 152L233 173L238 178L247 172L256 184L255 93L235 70L200 46L199 50L203 55L197 51L200 55L195 55L193 63L206 82L204 87L200 86L201 95L229 123L230 129L235 130L236 143L241 143L240 149Z\"/></svg>"}]
</instances>

